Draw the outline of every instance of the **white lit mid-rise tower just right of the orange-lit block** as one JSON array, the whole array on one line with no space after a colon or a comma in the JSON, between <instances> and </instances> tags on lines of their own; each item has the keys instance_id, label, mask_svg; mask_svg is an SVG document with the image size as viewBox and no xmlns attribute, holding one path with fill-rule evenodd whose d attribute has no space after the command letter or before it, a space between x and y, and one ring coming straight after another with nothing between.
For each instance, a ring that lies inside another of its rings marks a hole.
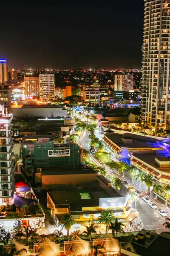
<instances>
[{"instance_id":1,"label":"white lit mid-rise tower just right of the orange-lit block","mask_svg":"<svg viewBox=\"0 0 170 256\"><path fill-rule=\"evenodd\" d=\"M54 99L54 75L41 74L40 79L40 100L51 101Z\"/></svg>"}]
</instances>

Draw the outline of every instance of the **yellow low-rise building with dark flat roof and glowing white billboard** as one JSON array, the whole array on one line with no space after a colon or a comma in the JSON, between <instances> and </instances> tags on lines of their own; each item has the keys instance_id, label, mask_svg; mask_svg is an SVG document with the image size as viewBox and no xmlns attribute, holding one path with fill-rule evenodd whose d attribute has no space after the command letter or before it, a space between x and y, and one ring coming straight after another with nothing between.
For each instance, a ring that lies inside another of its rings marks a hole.
<instances>
[{"instance_id":1,"label":"yellow low-rise building with dark flat roof and glowing white billboard","mask_svg":"<svg viewBox=\"0 0 170 256\"><path fill-rule=\"evenodd\" d=\"M72 175L69 176L72 177ZM127 221L130 218L127 197L117 194L111 186L100 179L100 176L88 182L77 183L74 188L70 186L62 187L62 191L55 190L47 192L47 207L51 209L51 215L56 224L63 214L69 213L77 222L74 228L83 230L90 222L95 223L101 210L105 209L111 209L115 217L127 219ZM104 224L101 224L101 228L104 228Z\"/></svg>"}]
</instances>

